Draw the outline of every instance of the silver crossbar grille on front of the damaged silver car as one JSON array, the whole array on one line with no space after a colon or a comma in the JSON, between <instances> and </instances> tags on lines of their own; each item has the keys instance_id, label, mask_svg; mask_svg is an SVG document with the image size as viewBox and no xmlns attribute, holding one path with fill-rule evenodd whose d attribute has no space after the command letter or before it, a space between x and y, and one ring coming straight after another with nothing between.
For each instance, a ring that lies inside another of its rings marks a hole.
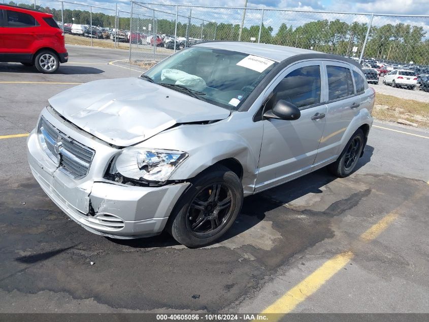
<instances>
[{"instance_id":1,"label":"silver crossbar grille on front of the damaged silver car","mask_svg":"<svg viewBox=\"0 0 429 322\"><path fill-rule=\"evenodd\" d=\"M41 116L39 138L48 157L74 179L84 177L95 151L62 133Z\"/></svg>"}]
</instances>

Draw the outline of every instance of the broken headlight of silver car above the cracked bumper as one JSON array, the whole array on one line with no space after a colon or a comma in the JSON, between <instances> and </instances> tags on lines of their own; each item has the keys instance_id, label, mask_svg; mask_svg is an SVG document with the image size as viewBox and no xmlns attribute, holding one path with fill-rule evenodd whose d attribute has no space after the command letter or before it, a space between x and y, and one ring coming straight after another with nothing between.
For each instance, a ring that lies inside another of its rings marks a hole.
<instances>
[{"instance_id":1,"label":"broken headlight of silver car above the cracked bumper","mask_svg":"<svg viewBox=\"0 0 429 322\"><path fill-rule=\"evenodd\" d=\"M181 151L127 148L113 159L109 174L121 183L163 183L187 156Z\"/></svg>"}]
</instances>

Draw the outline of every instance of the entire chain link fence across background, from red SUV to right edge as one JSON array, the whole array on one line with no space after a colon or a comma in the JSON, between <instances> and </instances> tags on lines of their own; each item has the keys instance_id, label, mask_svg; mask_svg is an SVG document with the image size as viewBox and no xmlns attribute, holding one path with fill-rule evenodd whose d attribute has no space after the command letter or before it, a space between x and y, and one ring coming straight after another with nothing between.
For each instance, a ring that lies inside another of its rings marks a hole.
<instances>
[{"instance_id":1,"label":"entire chain link fence across background, from red SUV to right edge","mask_svg":"<svg viewBox=\"0 0 429 322\"><path fill-rule=\"evenodd\" d=\"M3 3L53 14L67 44L129 49L137 64L159 62L197 42L229 40L313 49L375 68L429 68L429 16L143 2L131 2L126 11L117 4L102 8L59 0Z\"/></svg>"}]
</instances>

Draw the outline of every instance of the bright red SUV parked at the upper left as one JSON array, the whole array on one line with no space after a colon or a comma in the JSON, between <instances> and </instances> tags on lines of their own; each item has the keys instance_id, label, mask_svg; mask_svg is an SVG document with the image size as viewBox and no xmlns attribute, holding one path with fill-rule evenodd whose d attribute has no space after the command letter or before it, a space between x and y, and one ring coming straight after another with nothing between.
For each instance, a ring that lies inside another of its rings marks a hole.
<instances>
[{"instance_id":1,"label":"bright red SUV parked at the upper left","mask_svg":"<svg viewBox=\"0 0 429 322\"><path fill-rule=\"evenodd\" d=\"M64 34L48 13L0 5L0 62L36 66L54 73L69 58Z\"/></svg>"}]
</instances>

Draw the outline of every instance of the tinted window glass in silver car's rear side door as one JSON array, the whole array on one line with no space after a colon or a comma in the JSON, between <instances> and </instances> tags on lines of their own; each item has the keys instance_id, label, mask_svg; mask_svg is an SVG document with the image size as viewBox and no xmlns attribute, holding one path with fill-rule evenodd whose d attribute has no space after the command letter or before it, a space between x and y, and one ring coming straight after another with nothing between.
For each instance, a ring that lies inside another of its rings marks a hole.
<instances>
[{"instance_id":1,"label":"tinted window glass in silver car's rear side door","mask_svg":"<svg viewBox=\"0 0 429 322\"><path fill-rule=\"evenodd\" d=\"M354 94L350 69L341 66L326 66L328 100L336 100Z\"/></svg>"}]
</instances>

